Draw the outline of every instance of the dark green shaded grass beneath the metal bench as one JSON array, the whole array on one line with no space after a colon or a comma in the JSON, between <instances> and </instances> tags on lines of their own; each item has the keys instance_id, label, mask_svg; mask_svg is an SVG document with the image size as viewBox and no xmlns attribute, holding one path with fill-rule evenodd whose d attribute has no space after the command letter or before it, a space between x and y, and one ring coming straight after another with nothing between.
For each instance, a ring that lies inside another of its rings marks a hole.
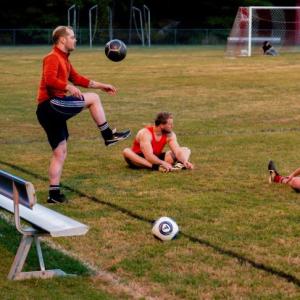
<instances>
[{"instance_id":1,"label":"dark green shaded grass beneath the metal bench","mask_svg":"<svg viewBox=\"0 0 300 300\"><path fill-rule=\"evenodd\" d=\"M8 224L0 217L0 252L1 249L6 249L11 253L11 264L13 263L14 256L16 255L22 235L11 224ZM55 249L50 248L45 243L41 242L43 257L46 269L62 269L68 274L76 274L87 276L91 274L86 266L79 261L71 258ZM10 268L10 266L9 266ZM26 259L26 264L23 271L37 271L40 270L39 262L36 254L34 243L31 246L30 252Z\"/></svg>"}]
</instances>

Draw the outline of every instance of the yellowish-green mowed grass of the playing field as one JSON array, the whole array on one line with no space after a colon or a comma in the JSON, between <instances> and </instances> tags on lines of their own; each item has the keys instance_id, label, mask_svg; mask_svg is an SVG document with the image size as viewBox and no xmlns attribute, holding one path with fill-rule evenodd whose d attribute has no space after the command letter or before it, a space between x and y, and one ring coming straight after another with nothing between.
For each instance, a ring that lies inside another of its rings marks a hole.
<instances>
[{"instance_id":1,"label":"yellowish-green mowed grass of the playing field","mask_svg":"<svg viewBox=\"0 0 300 300\"><path fill-rule=\"evenodd\" d=\"M0 49L0 167L32 181L44 205L51 151L35 97L48 50ZM299 299L300 196L269 185L267 163L274 159L283 174L299 167L300 54L228 59L218 49L129 47L127 58L113 63L103 49L78 48L71 61L82 74L118 88L115 97L100 94L112 126L135 135L157 112L173 112L195 170L130 170L121 153L133 137L105 148L88 111L71 119L62 180L70 202L51 207L90 230L51 241L117 283L80 269L77 279L18 283L19 293ZM168 243L151 235L151 220L164 215L182 232ZM16 295L15 283L5 279L16 250L6 239L16 234L10 229L1 236L1 298Z\"/></svg>"}]
</instances>

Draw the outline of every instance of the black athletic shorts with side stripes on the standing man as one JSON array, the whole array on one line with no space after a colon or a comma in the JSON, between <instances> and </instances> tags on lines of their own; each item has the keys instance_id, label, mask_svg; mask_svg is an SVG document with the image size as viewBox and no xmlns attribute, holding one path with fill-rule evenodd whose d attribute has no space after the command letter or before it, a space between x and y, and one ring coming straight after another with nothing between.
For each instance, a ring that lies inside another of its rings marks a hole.
<instances>
[{"instance_id":1,"label":"black athletic shorts with side stripes on the standing man","mask_svg":"<svg viewBox=\"0 0 300 300\"><path fill-rule=\"evenodd\" d=\"M69 137L67 120L84 108L84 98L73 96L55 97L40 103L36 110L37 118L44 128L49 144L54 150Z\"/></svg>"}]
</instances>

